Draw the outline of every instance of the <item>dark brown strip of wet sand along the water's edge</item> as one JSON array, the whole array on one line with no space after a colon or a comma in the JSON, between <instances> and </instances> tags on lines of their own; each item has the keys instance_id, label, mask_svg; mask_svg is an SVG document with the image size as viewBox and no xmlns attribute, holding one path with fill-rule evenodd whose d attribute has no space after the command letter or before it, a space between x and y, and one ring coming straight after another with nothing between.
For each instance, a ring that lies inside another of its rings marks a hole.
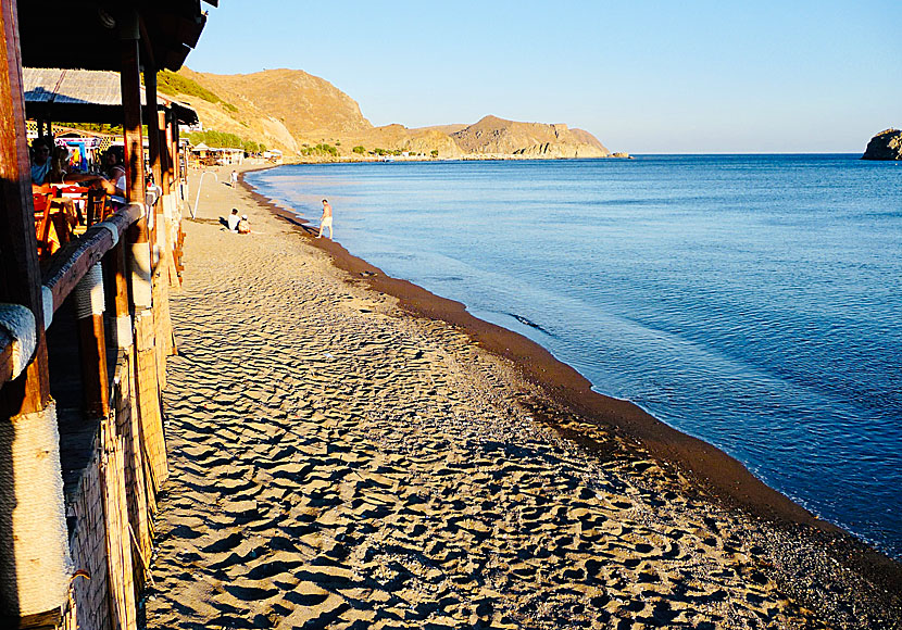
<instances>
[{"instance_id":1,"label":"dark brown strip of wet sand along the water's edge","mask_svg":"<svg viewBox=\"0 0 902 630\"><path fill-rule=\"evenodd\" d=\"M312 224L299 218L297 213L281 207L261 194L245 181L249 171L263 171L278 165L246 168L239 174L239 182L260 205L266 207L306 235L316 234ZM311 239L310 244L326 252L339 269L348 273L354 282L373 291L389 294L399 306L414 317L444 322L463 330L478 346L511 362L527 381L544 390L566 410L582 419L614 429L622 437L647 449L654 457L673 465L681 474L711 491L729 507L739 507L784 528L803 526L812 536L825 543L848 546L847 558L859 557L854 563L870 572L870 568L891 577L888 585L902 583L902 562L872 547L865 541L840 526L818 518L778 490L755 477L738 459L717 446L666 425L635 403L599 393L591 382L568 364L555 358L539 343L502 326L490 324L472 315L466 305L436 295L409 281L392 278L380 268L348 252L338 242ZM567 430L555 420L553 414L537 413L542 421L564 437L574 440L591 452L603 455L604 446L590 438ZM829 542L827 542L829 541ZM898 580L898 581L895 581Z\"/></svg>"}]
</instances>

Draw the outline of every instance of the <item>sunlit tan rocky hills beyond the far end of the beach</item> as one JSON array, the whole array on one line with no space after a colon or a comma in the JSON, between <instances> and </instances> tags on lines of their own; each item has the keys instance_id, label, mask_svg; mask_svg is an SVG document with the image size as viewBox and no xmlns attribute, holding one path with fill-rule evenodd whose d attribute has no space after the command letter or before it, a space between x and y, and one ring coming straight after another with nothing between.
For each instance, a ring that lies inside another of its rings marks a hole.
<instances>
[{"instance_id":1,"label":"sunlit tan rocky hills beyond the far end of the beach","mask_svg":"<svg viewBox=\"0 0 902 630\"><path fill-rule=\"evenodd\" d=\"M611 155L588 131L562 124L517 123L486 116L473 125L374 127L351 97L329 81L297 70L217 75L185 67L160 85L161 91L197 109L205 129L280 149L287 158L334 159L336 154L360 156L373 151L440 158Z\"/></svg>"}]
</instances>

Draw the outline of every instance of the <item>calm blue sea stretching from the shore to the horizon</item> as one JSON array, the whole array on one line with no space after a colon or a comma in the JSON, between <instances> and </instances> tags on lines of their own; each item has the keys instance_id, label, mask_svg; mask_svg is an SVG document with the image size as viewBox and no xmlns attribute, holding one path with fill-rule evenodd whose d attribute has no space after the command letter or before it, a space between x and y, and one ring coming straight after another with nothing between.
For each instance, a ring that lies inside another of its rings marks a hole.
<instances>
[{"instance_id":1,"label":"calm blue sea stretching from the shore to the horizon","mask_svg":"<svg viewBox=\"0 0 902 630\"><path fill-rule=\"evenodd\" d=\"M856 155L250 173L387 274L465 303L902 557L902 164Z\"/></svg>"}]
</instances>

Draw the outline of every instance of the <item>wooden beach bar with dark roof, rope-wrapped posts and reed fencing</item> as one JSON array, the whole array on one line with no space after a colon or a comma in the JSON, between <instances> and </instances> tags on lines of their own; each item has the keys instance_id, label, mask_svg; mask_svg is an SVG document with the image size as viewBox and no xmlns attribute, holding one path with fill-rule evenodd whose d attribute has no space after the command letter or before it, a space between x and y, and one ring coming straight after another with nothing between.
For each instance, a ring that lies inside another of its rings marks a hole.
<instances>
[{"instance_id":1,"label":"wooden beach bar with dark roof, rope-wrapped posts and reed fencing","mask_svg":"<svg viewBox=\"0 0 902 630\"><path fill-rule=\"evenodd\" d=\"M160 102L156 72L183 65L205 21L200 0L0 0L0 628L137 627L167 476L160 392L186 117ZM59 78L30 105L24 66ZM67 77L103 90L75 70L115 73L118 101L64 102ZM29 109L41 135L55 116L124 128L128 203L41 259Z\"/></svg>"}]
</instances>

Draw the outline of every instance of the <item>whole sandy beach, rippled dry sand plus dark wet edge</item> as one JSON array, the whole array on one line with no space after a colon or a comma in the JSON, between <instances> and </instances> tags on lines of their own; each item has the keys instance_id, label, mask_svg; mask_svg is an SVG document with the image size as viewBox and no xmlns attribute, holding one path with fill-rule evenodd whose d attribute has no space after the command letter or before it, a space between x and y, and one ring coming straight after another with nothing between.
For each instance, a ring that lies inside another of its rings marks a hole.
<instances>
[{"instance_id":1,"label":"whole sandy beach, rippled dry sand plus dark wet edge","mask_svg":"<svg viewBox=\"0 0 902 630\"><path fill-rule=\"evenodd\" d=\"M897 563L309 231L186 223L148 628L902 627Z\"/></svg>"}]
</instances>

